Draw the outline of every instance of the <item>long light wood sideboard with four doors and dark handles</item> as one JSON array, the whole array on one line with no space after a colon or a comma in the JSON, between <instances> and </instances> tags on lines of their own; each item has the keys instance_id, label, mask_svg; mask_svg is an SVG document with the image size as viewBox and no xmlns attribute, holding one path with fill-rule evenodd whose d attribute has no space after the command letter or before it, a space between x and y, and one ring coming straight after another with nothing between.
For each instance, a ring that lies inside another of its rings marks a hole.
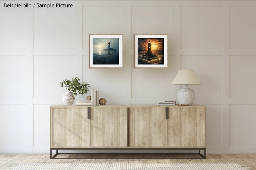
<instances>
[{"instance_id":1,"label":"long light wood sideboard with four doors and dark handles","mask_svg":"<svg viewBox=\"0 0 256 170\"><path fill-rule=\"evenodd\" d=\"M146 148L206 151L206 106L50 106L51 151Z\"/></svg>"}]
</instances>

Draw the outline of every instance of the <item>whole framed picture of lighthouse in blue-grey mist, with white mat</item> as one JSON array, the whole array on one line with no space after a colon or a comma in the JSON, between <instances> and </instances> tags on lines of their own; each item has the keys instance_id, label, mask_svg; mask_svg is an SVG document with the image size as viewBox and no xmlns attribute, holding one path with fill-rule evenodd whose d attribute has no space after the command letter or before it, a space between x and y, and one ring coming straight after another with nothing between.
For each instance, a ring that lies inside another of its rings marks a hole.
<instances>
[{"instance_id":1,"label":"whole framed picture of lighthouse in blue-grey mist, with white mat","mask_svg":"<svg viewBox=\"0 0 256 170\"><path fill-rule=\"evenodd\" d=\"M90 68L123 68L123 34L89 34Z\"/></svg>"}]
</instances>

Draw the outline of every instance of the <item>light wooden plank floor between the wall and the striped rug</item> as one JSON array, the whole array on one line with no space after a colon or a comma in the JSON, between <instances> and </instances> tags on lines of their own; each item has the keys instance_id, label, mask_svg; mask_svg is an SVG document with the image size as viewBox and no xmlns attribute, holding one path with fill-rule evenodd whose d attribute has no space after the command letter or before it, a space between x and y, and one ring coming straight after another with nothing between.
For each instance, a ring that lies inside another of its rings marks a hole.
<instances>
[{"instance_id":1,"label":"light wooden plank floor between the wall and the striped rug","mask_svg":"<svg viewBox=\"0 0 256 170\"><path fill-rule=\"evenodd\" d=\"M177 157L177 159L154 159L154 157ZM128 155L58 155L60 158L116 158L116 159L50 159L50 154L0 154L0 170L11 169L18 163L239 163L256 170L256 154L207 154L206 160L185 160L178 157L195 157L195 155L129 155L131 159L122 159ZM152 159L136 159L138 157Z\"/></svg>"}]
</instances>

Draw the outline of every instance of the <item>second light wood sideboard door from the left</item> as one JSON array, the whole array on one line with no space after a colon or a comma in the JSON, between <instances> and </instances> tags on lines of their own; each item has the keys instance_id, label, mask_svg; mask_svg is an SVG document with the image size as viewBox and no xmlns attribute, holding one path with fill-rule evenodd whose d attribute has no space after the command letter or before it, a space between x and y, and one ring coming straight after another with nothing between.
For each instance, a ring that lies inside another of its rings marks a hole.
<instances>
[{"instance_id":1,"label":"second light wood sideboard door from the left","mask_svg":"<svg viewBox=\"0 0 256 170\"><path fill-rule=\"evenodd\" d=\"M90 147L128 147L127 107L91 107Z\"/></svg>"}]
</instances>

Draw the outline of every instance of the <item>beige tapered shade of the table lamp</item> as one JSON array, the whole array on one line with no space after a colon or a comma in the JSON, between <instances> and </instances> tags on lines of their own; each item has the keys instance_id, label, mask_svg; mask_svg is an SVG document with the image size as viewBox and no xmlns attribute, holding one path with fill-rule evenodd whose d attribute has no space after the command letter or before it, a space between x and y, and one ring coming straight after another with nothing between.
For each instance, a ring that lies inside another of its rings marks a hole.
<instances>
[{"instance_id":1,"label":"beige tapered shade of the table lamp","mask_svg":"<svg viewBox=\"0 0 256 170\"><path fill-rule=\"evenodd\" d=\"M179 70L172 85L201 85L194 70Z\"/></svg>"}]
</instances>

